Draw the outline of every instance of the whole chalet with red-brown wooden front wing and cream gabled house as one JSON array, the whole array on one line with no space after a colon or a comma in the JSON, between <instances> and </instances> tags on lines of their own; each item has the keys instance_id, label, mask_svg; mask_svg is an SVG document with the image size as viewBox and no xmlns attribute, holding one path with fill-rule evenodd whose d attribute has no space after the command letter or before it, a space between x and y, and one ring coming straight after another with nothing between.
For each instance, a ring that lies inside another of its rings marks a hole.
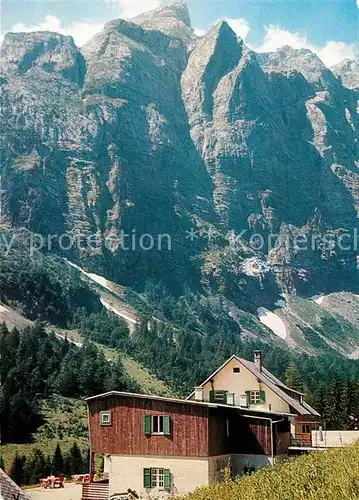
<instances>
[{"instance_id":1,"label":"whole chalet with red-brown wooden front wing and cream gabled house","mask_svg":"<svg viewBox=\"0 0 359 500\"><path fill-rule=\"evenodd\" d=\"M316 412L255 355L257 364L232 356L186 400L117 391L88 398L92 467L103 455L109 494L186 493L287 457L295 418Z\"/></svg>"}]
</instances>

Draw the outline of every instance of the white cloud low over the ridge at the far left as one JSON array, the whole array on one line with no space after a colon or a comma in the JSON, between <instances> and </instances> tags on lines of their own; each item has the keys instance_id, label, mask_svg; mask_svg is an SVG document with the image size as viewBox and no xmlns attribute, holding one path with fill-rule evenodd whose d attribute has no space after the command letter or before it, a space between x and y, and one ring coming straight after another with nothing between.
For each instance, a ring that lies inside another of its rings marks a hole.
<instances>
[{"instance_id":1,"label":"white cloud low over the ridge at the far left","mask_svg":"<svg viewBox=\"0 0 359 500\"><path fill-rule=\"evenodd\" d=\"M81 47L96 33L103 28L102 23L79 21L72 23L69 26L62 26L60 19L55 16L47 15L44 20L38 24L26 26L22 23L17 23L12 26L10 31L29 33L31 31L55 31L62 35L70 35L73 37L76 45Z\"/></svg>"}]
</instances>

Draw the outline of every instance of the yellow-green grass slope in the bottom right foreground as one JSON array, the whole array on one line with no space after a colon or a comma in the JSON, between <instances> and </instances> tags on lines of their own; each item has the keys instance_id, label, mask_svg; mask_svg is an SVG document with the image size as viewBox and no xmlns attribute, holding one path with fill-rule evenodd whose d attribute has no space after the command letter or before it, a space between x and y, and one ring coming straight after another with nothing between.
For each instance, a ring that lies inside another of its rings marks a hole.
<instances>
[{"instance_id":1,"label":"yellow-green grass slope in the bottom right foreground","mask_svg":"<svg viewBox=\"0 0 359 500\"><path fill-rule=\"evenodd\" d=\"M359 444L288 460L200 488L186 500L358 500ZM185 500L183 499L183 500Z\"/></svg>"}]
</instances>

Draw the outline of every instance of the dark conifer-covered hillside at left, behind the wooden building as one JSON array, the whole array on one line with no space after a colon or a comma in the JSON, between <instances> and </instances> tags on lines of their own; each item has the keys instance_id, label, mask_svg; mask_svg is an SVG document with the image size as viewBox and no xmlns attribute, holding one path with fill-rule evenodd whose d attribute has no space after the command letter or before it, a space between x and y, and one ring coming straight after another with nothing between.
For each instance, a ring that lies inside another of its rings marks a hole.
<instances>
[{"instance_id":1,"label":"dark conifer-covered hillside at left, behind the wooden building","mask_svg":"<svg viewBox=\"0 0 359 500\"><path fill-rule=\"evenodd\" d=\"M82 348L47 334L41 325L0 326L0 425L2 442L22 443L42 423L40 402L52 393L82 398L111 389L136 390L120 361L108 362L101 350Z\"/></svg>"}]
</instances>

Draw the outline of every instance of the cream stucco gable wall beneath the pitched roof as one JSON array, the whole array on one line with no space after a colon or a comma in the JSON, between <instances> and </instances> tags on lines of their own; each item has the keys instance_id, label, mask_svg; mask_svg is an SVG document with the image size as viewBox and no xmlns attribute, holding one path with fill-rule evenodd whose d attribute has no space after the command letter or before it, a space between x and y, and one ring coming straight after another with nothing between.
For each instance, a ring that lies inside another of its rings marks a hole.
<instances>
[{"instance_id":1,"label":"cream stucco gable wall beneath the pitched roof","mask_svg":"<svg viewBox=\"0 0 359 500\"><path fill-rule=\"evenodd\" d=\"M233 373L233 368L239 367L240 373ZM258 379L236 359L232 359L214 377L214 389L228 391L235 394L235 405L239 406L240 394L246 391L265 391L265 404L252 405L253 409L268 410L280 413L290 413L288 404L283 401L275 392L265 384L258 382ZM203 387L203 399L209 401L209 393L212 390L210 382ZM271 410L269 407L271 406Z\"/></svg>"}]
</instances>

